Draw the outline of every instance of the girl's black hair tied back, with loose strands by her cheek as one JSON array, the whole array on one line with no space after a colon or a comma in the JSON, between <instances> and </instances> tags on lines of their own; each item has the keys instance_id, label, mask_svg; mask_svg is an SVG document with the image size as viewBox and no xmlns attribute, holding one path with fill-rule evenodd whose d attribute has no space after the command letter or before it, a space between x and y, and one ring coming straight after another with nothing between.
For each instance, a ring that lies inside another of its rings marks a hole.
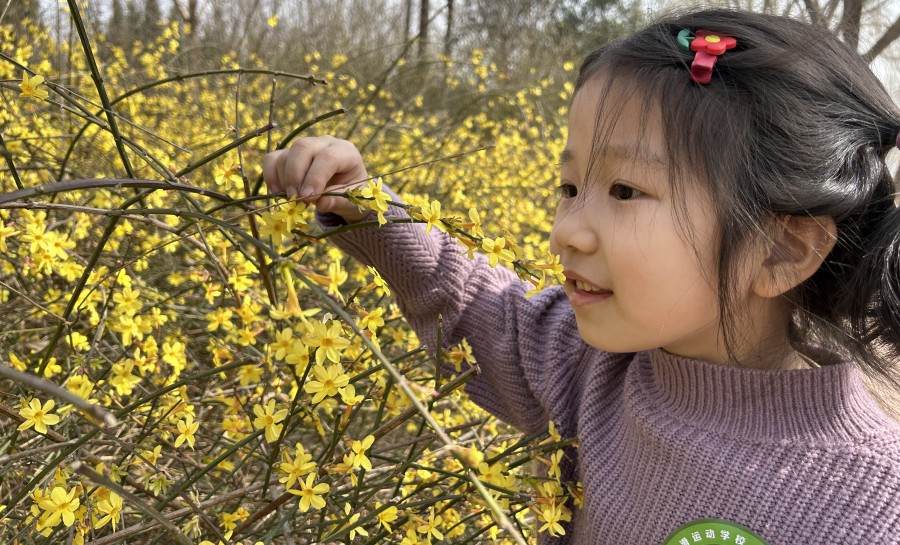
<instances>
[{"instance_id":1,"label":"girl's black hair tied back, with loose strands by her cheek","mask_svg":"<svg viewBox=\"0 0 900 545\"><path fill-rule=\"evenodd\" d=\"M737 40L709 84L691 81L694 52L679 47L682 29ZM661 113L673 190L686 174L708 186L721 226L714 274L729 355L738 250L773 219L828 216L837 241L788 294L789 338L897 385L900 211L885 156L896 146L900 111L862 58L824 29L717 9L669 16L601 46L582 63L575 92L600 79L602 96L625 85L644 111Z\"/></svg>"}]
</instances>

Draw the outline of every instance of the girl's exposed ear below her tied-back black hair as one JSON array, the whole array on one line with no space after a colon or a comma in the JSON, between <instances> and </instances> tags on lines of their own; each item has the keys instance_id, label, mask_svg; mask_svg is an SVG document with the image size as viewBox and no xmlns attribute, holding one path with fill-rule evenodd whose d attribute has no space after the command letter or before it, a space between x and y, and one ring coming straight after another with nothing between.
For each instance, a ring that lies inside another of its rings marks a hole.
<instances>
[{"instance_id":1,"label":"girl's exposed ear below her tied-back black hair","mask_svg":"<svg viewBox=\"0 0 900 545\"><path fill-rule=\"evenodd\" d=\"M753 291L778 297L815 273L837 242L829 216L781 216L767 229Z\"/></svg>"}]
</instances>

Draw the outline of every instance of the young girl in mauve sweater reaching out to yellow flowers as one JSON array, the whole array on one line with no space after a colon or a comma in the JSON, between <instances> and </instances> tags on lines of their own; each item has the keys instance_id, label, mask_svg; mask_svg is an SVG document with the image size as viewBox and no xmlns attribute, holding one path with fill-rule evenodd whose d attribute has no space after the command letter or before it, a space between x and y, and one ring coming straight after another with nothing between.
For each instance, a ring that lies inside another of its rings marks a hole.
<instances>
[{"instance_id":1,"label":"young girl in mauve sweater reaching out to yellow flowers","mask_svg":"<svg viewBox=\"0 0 900 545\"><path fill-rule=\"evenodd\" d=\"M438 314L469 341L472 399L579 438L564 471L584 505L559 542L900 543L900 426L862 381L900 350L897 106L826 32L737 11L604 45L575 89L563 287L525 299L422 225L333 240L424 343ZM326 227L371 219L319 196L367 178L348 142L300 140L264 174Z\"/></svg>"}]
</instances>

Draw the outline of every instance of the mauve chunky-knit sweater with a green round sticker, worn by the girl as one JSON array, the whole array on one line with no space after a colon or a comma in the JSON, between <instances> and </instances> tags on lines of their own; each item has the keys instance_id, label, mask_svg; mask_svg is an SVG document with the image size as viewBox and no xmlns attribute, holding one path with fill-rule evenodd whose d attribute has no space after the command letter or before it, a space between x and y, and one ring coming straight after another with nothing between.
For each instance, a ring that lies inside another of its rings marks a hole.
<instances>
[{"instance_id":1,"label":"mauve chunky-knit sweater with a green round sticker, worn by the girl","mask_svg":"<svg viewBox=\"0 0 900 545\"><path fill-rule=\"evenodd\" d=\"M543 542L900 543L900 426L853 363L762 371L606 353L581 339L562 289L525 299L511 271L468 259L437 229L388 224L332 240L378 269L423 344L434 346L438 314L447 346L469 341L475 402L522 431L552 419L579 438L563 478L583 483L584 506L565 536Z\"/></svg>"}]
</instances>

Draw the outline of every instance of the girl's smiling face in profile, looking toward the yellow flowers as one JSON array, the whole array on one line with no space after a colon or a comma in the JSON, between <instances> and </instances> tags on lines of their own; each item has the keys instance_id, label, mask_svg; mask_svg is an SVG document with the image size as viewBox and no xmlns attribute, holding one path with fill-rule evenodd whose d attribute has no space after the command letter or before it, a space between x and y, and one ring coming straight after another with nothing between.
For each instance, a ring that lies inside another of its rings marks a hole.
<instances>
[{"instance_id":1,"label":"girl's smiling face in profile, looking toward the yellow flowers","mask_svg":"<svg viewBox=\"0 0 900 545\"><path fill-rule=\"evenodd\" d=\"M588 344L609 352L662 347L725 362L714 280L717 223L709 198L690 181L679 196L684 201L674 198L660 115L642 120L644 102L621 90L632 98L606 100L606 111L598 112L604 88L602 81L588 83L573 101L550 238L566 270L578 330ZM618 119L610 128L613 116ZM594 149L598 119L609 139ZM677 225L679 206L691 240Z\"/></svg>"}]
</instances>

